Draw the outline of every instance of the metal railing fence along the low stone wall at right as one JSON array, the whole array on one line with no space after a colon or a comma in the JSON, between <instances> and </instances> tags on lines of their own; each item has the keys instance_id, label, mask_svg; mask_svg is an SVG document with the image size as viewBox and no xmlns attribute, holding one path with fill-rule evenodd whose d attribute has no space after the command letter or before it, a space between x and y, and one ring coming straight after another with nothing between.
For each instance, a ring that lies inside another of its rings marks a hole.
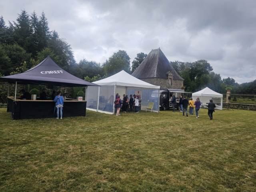
<instances>
[{"instance_id":1,"label":"metal railing fence along the low stone wall at right","mask_svg":"<svg viewBox=\"0 0 256 192\"><path fill-rule=\"evenodd\" d=\"M256 94L230 94L231 103L256 104ZM223 94L223 102L226 102L226 94Z\"/></svg>"}]
</instances>

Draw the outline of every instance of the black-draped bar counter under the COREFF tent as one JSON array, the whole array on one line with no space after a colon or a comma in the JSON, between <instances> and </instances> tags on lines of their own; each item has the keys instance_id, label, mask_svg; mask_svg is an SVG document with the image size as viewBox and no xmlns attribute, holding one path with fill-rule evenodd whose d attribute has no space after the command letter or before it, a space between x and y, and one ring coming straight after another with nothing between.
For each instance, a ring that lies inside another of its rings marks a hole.
<instances>
[{"instance_id":1,"label":"black-draped bar counter under the COREFF tent","mask_svg":"<svg viewBox=\"0 0 256 192\"><path fill-rule=\"evenodd\" d=\"M20 100L8 97L7 112L12 113L12 118L17 119L40 119L56 118L55 102L52 100ZM86 115L86 101L64 100L62 117L75 117Z\"/></svg>"}]
</instances>

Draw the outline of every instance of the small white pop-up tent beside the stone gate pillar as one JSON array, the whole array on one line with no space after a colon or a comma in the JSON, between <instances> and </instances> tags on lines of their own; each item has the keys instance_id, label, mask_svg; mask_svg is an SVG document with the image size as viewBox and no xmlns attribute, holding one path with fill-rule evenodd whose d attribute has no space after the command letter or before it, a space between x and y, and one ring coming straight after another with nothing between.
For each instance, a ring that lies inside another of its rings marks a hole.
<instances>
[{"instance_id":1,"label":"small white pop-up tent beside the stone gate pillar","mask_svg":"<svg viewBox=\"0 0 256 192\"><path fill-rule=\"evenodd\" d=\"M209 100L212 99L213 102L218 105L217 109L222 110L222 100L223 95L220 93L217 93L210 88L206 87L198 92L192 93L192 98L194 101L196 101L196 98L200 99L200 102L202 104L209 103Z\"/></svg>"}]
</instances>

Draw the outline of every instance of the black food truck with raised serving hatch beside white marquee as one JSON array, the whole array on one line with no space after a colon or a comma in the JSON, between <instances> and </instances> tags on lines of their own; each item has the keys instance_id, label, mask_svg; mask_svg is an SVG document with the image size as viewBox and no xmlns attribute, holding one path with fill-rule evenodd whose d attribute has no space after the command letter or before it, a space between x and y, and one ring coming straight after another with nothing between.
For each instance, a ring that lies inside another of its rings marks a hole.
<instances>
[{"instance_id":1,"label":"black food truck with raised serving hatch beside white marquee","mask_svg":"<svg viewBox=\"0 0 256 192\"><path fill-rule=\"evenodd\" d=\"M175 108L180 110L180 95L186 95L186 97L190 98L192 96L191 92L185 92L182 89L160 89L159 91L159 108L162 110L172 109L172 96L176 97ZM151 94L151 99L158 96L158 91L153 91Z\"/></svg>"}]
</instances>

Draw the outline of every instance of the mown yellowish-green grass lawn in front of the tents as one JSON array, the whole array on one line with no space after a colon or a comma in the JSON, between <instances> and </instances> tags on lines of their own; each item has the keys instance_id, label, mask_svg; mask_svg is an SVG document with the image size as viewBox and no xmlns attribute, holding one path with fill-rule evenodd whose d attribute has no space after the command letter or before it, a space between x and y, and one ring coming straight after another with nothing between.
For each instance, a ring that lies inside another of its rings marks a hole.
<instances>
[{"instance_id":1,"label":"mown yellowish-green grass lawn in front of the tents","mask_svg":"<svg viewBox=\"0 0 256 192\"><path fill-rule=\"evenodd\" d=\"M0 191L255 192L256 112L199 116L12 120L0 108Z\"/></svg>"}]
</instances>

